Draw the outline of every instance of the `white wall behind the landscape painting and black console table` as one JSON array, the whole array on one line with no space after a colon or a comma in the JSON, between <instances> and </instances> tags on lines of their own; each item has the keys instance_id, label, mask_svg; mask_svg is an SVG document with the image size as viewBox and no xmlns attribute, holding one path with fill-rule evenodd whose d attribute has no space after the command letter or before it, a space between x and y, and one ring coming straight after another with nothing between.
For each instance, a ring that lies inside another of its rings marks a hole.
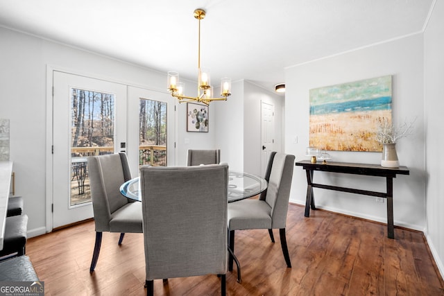
<instances>
[{"instance_id":1,"label":"white wall behind the landscape painting and black console table","mask_svg":"<svg viewBox=\"0 0 444 296\"><path fill-rule=\"evenodd\" d=\"M425 140L422 133L423 107L423 51L422 35L412 35L384 44L368 46L341 55L296 65L286 69L285 152L296 159L307 159L309 145L309 89L343 82L393 76L393 121L416 119L416 132L397 144L402 166L410 175L398 175L394 186L395 225L411 229L425 229ZM291 98L291 99L289 99ZM298 143L293 139L298 137ZM382 153L333 151L333 161L380 164ZM385 180L377 177L315 173L315 180L337 186L385 191ZM305 204L307 180L305 171L296 167L291 188L291 202ZM377 203L366 195L314 189L316 206L343 214L386 223L386 203Z\"/></svg>"}]
</instances>

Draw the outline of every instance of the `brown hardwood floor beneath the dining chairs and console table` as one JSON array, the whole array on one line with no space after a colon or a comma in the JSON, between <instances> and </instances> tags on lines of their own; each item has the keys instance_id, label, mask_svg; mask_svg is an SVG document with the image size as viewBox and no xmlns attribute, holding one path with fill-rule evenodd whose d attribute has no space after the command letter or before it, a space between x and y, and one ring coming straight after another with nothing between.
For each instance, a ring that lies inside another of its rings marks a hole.
<instances>
[{"instance_id":1,"label":"brown hardwood floor beneath the dining chairs and console table","mask_svg":"<svg viewBox=\"0 0 444 296\"><path fill-rule=\"evenodd\" d=\"M287 268L279 241L266 230L236 232L241 262L227 273L227 295L444 295L444 282L422 232L290 204ZM143 234L103 234L96 270L90 274L94 222L28 239L26 254L44 281L45 295L146 295ZM215 275L154 281L155 295L220 295Z\"/></svg>"}]
</instances>

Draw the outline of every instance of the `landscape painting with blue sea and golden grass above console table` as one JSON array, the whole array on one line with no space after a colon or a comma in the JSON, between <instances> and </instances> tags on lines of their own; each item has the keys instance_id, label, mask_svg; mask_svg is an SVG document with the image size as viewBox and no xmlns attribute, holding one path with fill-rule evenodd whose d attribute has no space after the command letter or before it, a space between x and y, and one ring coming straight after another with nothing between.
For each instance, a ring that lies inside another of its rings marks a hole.
<instances>
[{"instance_id":1,"label":"landscape painting with blue sea and golden grass above console table","mask_svg":"<svg viewBox=\"0 0 444 296\"><path fill-rule=\"evenodd\" d=\"M392 76L310 89L309 146L336 151L382 151L377 123L391 122Z\"/></svg>"}]
</instances>

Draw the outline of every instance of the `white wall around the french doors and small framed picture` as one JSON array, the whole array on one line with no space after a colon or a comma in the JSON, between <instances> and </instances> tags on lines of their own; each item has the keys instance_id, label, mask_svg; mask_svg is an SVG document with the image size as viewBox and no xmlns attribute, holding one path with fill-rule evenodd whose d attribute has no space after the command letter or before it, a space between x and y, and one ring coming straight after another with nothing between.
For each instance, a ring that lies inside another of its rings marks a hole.
<instances>
[{"instance_id":1,"label":"white wall around the french doors and small framed picture","mask_svg":"<svg viewBox=\"0 0 444 296\"><path fill-rule=\"evenodd\" d=\"M45 232L46 211L50 210L46 207L45 176L46 170L51 170L46 168L46 157L51 157L46 146L46 87L51 81L46 81L46 67L165 93L167 74L1 27L0 40L0 118L10 119L10 159L14 162L16 195L24 197L28 236L35 236ZM187 148L214 146L212 128L208 133L186 132L186 107L178 107L177 164L186 164ZM210 112L211 115L211 109ZM189 139L187 146L185 138Z\"/></svg>"}]
</instances>

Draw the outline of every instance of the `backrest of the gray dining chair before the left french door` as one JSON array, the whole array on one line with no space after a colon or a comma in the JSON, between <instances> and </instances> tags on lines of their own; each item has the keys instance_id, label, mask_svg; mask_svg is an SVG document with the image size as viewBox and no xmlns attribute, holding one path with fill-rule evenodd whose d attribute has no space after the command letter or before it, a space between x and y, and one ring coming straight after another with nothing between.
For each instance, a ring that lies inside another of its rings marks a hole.
<instances>
[{"instance_id":1,"label":"backrest of the gray dining chair before the left french door","mask_svg":"<svg viewBox=\"0 0 444 296\"><path fill-rule=\"evenodd\" d=\"M90 156L89 186L96 232L109 232L112 213L130 202L120 193L120 186L131 179L125 153Z\"/></svg>"}]
</instances>

